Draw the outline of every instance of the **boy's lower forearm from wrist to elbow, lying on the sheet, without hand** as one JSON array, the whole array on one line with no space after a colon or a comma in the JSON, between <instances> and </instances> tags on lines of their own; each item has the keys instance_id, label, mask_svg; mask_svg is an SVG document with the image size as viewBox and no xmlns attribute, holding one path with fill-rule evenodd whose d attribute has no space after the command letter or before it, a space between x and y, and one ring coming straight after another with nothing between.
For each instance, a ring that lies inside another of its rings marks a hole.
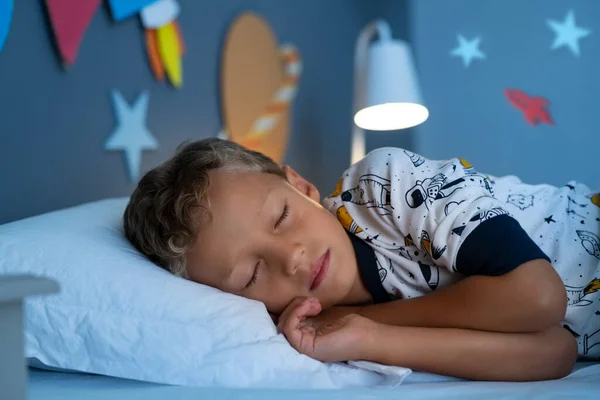
<instances>
[{"instance_id":1,"label":"boy's lower forearm from wrist to elbow, lying on the sheet, without hand","mask_svg":"<svg viewBox=\"0 0 600 400\"><path fill-rule=\"evenodd\" d=\"M531 381L569 374L577 345L555 327L536 333L378 324L364 359L471 380Z\"/></svg>"}]
</instances>

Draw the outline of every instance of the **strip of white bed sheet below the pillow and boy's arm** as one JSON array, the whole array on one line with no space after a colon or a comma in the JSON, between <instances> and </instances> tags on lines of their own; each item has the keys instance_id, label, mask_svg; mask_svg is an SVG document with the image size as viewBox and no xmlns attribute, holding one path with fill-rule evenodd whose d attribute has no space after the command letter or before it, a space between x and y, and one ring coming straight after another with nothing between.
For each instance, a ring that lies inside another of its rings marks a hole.
<instances>
[{"instance_id":1,"label":"strip of white bed sheet below the pillow and boy's arm","mask_svg":"<svg viewBox=\"0 0 600 400\"><path fill-rule=\"evenodd\" d=\"M566 378L526 383L468 382L413 373L394 389L268 390L165 386L97 375L32 369L29 400L469 400L600 399L600 364L578 363ZM1 397L1 396L0 396Z\"/></svg>"}]
</instances>

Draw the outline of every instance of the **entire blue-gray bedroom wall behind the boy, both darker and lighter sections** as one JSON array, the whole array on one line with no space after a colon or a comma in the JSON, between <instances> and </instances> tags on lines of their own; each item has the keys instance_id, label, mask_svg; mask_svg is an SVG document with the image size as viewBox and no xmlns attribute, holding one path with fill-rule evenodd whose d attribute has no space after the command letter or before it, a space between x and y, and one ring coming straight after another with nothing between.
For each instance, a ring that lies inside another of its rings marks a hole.
<instances>
[{"instance_id":1,"label":"entire blue-gray bedroom wall behind the boy, both darker and lighter sections","mask_svg":"<svg viewBox=\"0 0 600 400\"><path fill-rule=\"evenodd\" d=\"M156 83L137 18L113 22L103 6L77 62L60 66L42 1L18 1L0 53L0 223L131 192L120 152L106 152L114 128L110 90L132 102L150 92L147 124L161 147L145 152L142 173L185 139L221 127L219 59L229 23L240 12L266 17L280 42L295 43L305 71L294 104L285 162L326 193L348 165L354 42L384 17L410 39L431 111L420 127L370 132L368 149L400 146L430 158L462 156L478 169L528 182L569 179L598 187L596 129L600 78L600 3L587 0L181 0L188 53L184 87ZM581 56L550 50L546 20L569 9L592 31ZM481 36L487 59L464 68L450 57L456 35ZM514 87L547 97L555 126L528 125L504 97Z\"/></svg>"}]
</instances>

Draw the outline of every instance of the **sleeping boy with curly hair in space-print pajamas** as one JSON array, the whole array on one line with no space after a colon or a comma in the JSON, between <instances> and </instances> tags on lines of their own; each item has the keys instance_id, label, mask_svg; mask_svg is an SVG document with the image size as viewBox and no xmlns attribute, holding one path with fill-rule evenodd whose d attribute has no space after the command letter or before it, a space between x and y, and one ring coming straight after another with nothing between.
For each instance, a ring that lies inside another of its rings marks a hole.
<instances>
[{"instance_id":1,"label":"sleeping boy with curly hair in space-print pajamas","mask_svg":"<svg viewBox=\"0 0 600 400\"><path fill-rule=\"evenodd\" d=\"M600 357L600 195L382 148L314 185L216 138L131 196L125 233L174 274L261 301L299 352L473 380Z\"/></svg>"}]
</instances>

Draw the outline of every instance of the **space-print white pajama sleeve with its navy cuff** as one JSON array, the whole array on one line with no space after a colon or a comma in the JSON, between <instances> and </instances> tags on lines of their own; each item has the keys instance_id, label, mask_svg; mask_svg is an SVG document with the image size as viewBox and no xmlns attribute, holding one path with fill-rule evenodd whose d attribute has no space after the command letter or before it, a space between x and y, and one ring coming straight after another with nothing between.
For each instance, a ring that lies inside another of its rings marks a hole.
<instances>
[{"instance_id":1,"label":"space-print white pajama sleeve with its navy cuff","mask_svg":"<svg viewBox=\"0 0 600 400\"><path fill-rule=\"evenodd\" d=\"M347 174L341 193L375 237L396 231L440 267L464 275L503 275L546 255L493 196L493 184L463 159L427 160L397 148L375 150ZM396 244L396 243L394 243ZM391 244L388 244L391 245Z\"/></svg>"}]
</instances>

